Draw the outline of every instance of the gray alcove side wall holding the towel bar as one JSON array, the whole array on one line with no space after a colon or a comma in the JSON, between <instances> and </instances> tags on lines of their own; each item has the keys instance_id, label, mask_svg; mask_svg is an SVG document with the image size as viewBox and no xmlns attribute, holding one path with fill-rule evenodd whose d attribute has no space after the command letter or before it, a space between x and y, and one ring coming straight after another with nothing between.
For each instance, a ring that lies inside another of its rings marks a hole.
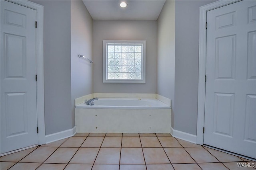
<instances>
[{"instance_id":1,"label":"gray alcove side wall holding the towel bar","mask_svg":"<svg viewBox=\"0 0 256 170\"><path fill-rule=\"evenodd\" d=\"M92 94L92 66L78 54L92 59L92 17L82 1L71 1L71 103L75 126L74 99ZM93 60L93 59L92 59Z\"/></svg>"}]
</instances>

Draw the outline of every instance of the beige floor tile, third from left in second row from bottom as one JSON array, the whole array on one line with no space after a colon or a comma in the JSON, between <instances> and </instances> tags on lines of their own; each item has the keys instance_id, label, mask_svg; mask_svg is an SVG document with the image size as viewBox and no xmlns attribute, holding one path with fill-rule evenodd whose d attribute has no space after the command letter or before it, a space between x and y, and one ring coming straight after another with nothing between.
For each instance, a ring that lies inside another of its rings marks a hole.
<instances>
[{"instance_id":1,"label":"beige floor tile, third from left in second row from bottom","mask_svg":"<svg viewBox=\"0 0 256 170\"><path fill-rule=\"evenodd\" d=\"M44 163L67 164L78 148L58 148Z\"/></svg>"}]
</instances>

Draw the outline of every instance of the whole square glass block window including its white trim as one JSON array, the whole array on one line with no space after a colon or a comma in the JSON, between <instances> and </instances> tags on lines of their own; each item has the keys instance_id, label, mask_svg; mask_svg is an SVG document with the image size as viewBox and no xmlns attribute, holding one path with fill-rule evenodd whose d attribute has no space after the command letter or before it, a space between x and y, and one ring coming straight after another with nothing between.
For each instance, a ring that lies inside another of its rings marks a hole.
<instances>
[{"instance_id":1,"label":"whole square glass block window including its white trim","mask_svg":"<svg viewBox=\"0 0 256 170\"><path fill-rule=\"evenodd\" d=\"M146 82L146 41L103 42L103 82Z\"/></svg>"}]
</instances>

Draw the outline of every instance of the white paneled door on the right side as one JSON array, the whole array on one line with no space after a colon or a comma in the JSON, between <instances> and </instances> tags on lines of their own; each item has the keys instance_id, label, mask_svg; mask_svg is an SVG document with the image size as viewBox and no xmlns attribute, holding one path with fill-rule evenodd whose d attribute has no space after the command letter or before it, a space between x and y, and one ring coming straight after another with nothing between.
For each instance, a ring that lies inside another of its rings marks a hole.
<instances>
[{"instance_id":1,"label":"white paneled door on the right side","mask_svg":"<svg viewBox=\"0 0 256 170\"><path fill-rule=\"evenodd\" d=\"M207 12L204 144L256 158L256 1Z\"/></svg>"}]
</instances>

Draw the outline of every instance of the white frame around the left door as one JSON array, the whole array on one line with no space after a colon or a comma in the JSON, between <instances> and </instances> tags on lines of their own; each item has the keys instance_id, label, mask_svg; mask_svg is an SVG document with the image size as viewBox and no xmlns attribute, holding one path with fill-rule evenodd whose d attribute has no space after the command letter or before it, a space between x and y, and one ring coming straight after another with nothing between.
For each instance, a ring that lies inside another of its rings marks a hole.
<instances>
[{"instance_id":1,"label":"white frame around the left door","mask_svg":"<svg viewBox=\"0 0 256 170\"><path fill-rule=\"evenodd\" d=\"M44 6L28 0L6 0L36 10L36 104L38 124L38 145L45 144L44 124ZM35 129L36 130L36 129Z\"/></svg>"}]
</instances>

